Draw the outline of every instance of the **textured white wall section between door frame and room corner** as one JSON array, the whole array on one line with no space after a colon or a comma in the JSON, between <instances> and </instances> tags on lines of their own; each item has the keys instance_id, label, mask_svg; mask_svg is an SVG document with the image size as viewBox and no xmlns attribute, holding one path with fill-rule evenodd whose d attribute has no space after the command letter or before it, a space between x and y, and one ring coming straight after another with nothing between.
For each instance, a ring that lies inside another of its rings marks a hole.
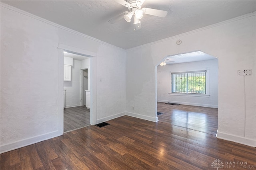
<instances>
[{"instance_id":1,"label":"textured white wall section between door frame and room corner","mask_svg":"<svg viewBox=\"0 0 256 170\"><path fill-rule=\"evenodd\" d=\"M126 58L125 53L107 45L100 45L100 49L97 67L102 71L97 72L97 89L101 89L97 90L97 120L102 122L124 115L116 113L124 112L123 108L126 108Z\"/></svg>"}]
</instances>

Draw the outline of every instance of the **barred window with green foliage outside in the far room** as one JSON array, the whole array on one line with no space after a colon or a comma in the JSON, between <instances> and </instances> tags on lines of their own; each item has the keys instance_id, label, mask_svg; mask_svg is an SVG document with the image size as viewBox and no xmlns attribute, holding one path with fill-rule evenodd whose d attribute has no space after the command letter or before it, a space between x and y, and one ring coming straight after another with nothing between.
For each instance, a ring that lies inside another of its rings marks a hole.
<instances>
[{"instance_id":1,"label":"barred window with green foliage outside in the far room","mask_svg":"<svg viewBox=\"0 0 256 170\"><path fill-rule=\"evenodd\" d=\"M172 93L206 94L206 70L172 73Z\"/></svg>"}]
</instances>

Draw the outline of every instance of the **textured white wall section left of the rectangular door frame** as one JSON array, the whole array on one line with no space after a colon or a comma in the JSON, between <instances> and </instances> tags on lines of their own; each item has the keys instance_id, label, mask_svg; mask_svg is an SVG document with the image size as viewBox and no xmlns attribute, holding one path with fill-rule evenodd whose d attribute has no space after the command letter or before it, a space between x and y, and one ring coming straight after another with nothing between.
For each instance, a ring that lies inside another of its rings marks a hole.
<instances>
[{"instance_id":1,"label":"textured white wall section left of the rectangular door frame","mask_svg":"<svg viewBox=\"0 0 256 170\"><path fill-rule=\"evenodd\" d=\"M58 131L56 32L1 7L1 149Z\"/></svg>"}]
</instances>

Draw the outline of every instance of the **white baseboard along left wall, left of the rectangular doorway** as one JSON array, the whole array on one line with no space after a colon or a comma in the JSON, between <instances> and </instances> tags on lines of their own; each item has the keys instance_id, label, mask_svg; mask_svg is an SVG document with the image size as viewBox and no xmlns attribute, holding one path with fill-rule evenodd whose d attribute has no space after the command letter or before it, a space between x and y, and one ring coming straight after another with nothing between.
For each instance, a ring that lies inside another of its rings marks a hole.
<instances>
[{"instance_id":1,"label":"white baseboard along left wall, left of the rectangular doorway","mask_svg":"<svg viewBox=\"0 0 256 170\"><path fill-rule=\"evenodd\" d=\"M4 152L8 152L8 151L11 151L11 150L26 147L26 146L32 145L34 143L38 143L38 142L45 141L47 139L52 139L54 137L58 137L60 135L63 135L63 132L59 133L59 131L53 131L53 132L50 132L50 133L45 133L43 135L38 135L38 136L35 136L35 137L23 139L23 140L16 141L16 142L13 142L13 143L8 143L8 144L2 145L0 147L0 153L2 154Z\"/></svg>"}]
</instances>

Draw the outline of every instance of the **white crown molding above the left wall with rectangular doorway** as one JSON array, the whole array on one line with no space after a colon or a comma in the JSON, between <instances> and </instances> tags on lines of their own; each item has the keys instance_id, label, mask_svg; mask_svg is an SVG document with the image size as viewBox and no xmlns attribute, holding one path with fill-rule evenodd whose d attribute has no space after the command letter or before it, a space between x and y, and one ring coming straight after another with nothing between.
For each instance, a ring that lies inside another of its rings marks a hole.
<instances>
[{"instance_id":1,"label":"white crown molding above the left wall with rectangular doorway","mask_svg":"<svg viewBox=\"0 0 256 170\"><path fill-rule=\"evenodd\" d=\"M30 18L36 19L36 20L38 20L38 21L42 21L42 22L44 22L44 23L48 23L48 24L50 24L50 25L52 25L52 26L54 26L54 27L58 27L58 28L60 28L60 29L64 29L65 31L74 33L74 34L76 34L76 35L80 35L80 36L82 36L82 37L91 39L91 40L96 41L96 42L98 42L98 43L101 43L101 44L104 44L104 45L108 45L108 46L114 47L114 48L119 49L119 50L121 50L121 51L125 51L124 49L122 49L122 48L120 48L120 47L116 47L115 45L106 43L106 42L101 41L101 40L99 40L99 39L96 39L96 38L94 38L94 37L90 37L89 35L80 33L80 32L78 32L78 31L75 31L75 30L70 29L70 28L67 28L67 27L64 27L64 26L62 26L62 25L59 25L59 24L54 23L54 22L52 22L52 21L46 20L46 19L44 19L44 18L41 18L41 17L36 16L36 15L34 15L34 14L31 14L31 13L29 13L29 12L20 10L19 8L16 8L16 7L14 7L14 6L10 6L10 5L5 4L5 3L3 3L3 2L0 2L0 6L6 8L6 9L8 9L8 10L12 10L12 11L14 11L14 12L20 13L20 14L22 14L22 15L28 16L28 17L30 17Z\"/></svg>"}]
</instances>

